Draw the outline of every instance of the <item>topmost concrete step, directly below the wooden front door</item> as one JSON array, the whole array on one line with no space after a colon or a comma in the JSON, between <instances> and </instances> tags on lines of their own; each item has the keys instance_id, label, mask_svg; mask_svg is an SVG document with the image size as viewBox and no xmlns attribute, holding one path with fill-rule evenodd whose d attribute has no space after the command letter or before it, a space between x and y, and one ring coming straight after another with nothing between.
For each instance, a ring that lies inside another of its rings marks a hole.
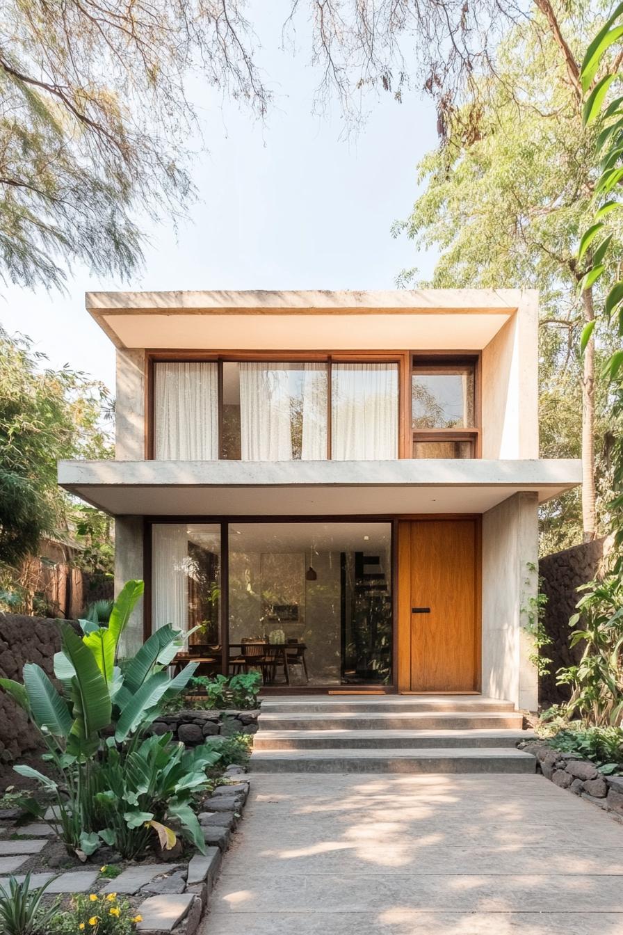
<instances>
[{"instance_id":1,"label":"topmost concrete step, directly below the wooden front door","mask_svg":"<svg viewBox=\"0 0 623 935\"><path fill-rule=\"evenodd\" d=\"M340 696L297 696L262 698L262 713L270 714L347 714L361 712L514 712L512 701L481 695L378 695L341 698Z\"/></svg>"}]
</instances>

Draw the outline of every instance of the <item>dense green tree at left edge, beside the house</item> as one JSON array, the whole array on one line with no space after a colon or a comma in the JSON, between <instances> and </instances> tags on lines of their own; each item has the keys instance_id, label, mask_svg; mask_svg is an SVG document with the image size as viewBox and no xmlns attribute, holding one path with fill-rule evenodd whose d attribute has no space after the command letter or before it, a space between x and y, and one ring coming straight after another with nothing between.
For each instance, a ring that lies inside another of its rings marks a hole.
<instances>
[{"instance_id":1,"label":"dense green tree at left edge, beside the house","mask_svg":"<svg viewBox=\"0 0 623 935\"><path fill-rule=\"evenodd\" d=\"M59 489L62 458L110 457L103 383L64 367L41 368L29 338L0 329L0 565L35 554L44 535L64 536L72 499Z\"/></svg>"}]
</instances>

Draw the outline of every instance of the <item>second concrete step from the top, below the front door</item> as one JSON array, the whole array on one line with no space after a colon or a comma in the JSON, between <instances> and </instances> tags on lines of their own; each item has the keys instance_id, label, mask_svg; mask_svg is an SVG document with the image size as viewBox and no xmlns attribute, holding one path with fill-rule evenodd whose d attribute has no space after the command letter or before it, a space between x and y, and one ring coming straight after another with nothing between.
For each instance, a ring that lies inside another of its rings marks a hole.
<instances>
[{"instance_id":1,"label":"second concrete step from the top, below the front door","mask_svg":"<svg viewBox=\"0 0 623 935\"><path fill-rule=\"evenodd\" d=\"M258 718L262 730L521 730L519 712L265 712ZM256 735L257 736L257 735Z\"/></svg>"}]
</instances>

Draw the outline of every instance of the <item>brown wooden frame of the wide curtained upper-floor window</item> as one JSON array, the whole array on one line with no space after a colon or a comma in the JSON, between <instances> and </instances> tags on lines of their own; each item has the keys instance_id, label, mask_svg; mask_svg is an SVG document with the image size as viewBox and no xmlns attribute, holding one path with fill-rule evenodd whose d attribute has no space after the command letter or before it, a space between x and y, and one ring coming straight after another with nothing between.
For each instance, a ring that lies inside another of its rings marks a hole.
<instances>
[{"instance_id":1,"label":"brown wooden frame of the wide curtained upper-floor window","mask_svg":"<svg viewBox=\"0 0 623 935\"><path fill-rule=\"evenodd\" d=\"M154 460L155 451L155 365L181 363L216 363L219 365L219 460L222 457L222 365L224 363L321 364L328 365L327 392L327 460L332 453L332 365L333 364L397 364L398 365L398 458L411 457L411 368L409 351L146 351L146 418L145 459Z\"/></svg>"}]
</instances>

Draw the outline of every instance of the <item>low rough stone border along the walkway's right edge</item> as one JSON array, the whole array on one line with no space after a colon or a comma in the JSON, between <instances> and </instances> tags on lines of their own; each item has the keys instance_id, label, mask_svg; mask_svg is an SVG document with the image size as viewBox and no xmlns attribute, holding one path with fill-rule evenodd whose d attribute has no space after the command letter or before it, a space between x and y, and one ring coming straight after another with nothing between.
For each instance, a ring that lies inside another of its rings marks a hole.
<instances>
[{"instance_id":1,"label":"low rough stone border along the walkway's right edge","mask_svg":"<svg viewBox=\"0 0 623 935\"><path fill-rule=\"evenodd\" d=\"M604 776L594 763L576 754L560 753L547 743L529 742L523 749L536 756L537 772L545 779L623 819L623 776Z\"/></svg>"}]
</instances>

